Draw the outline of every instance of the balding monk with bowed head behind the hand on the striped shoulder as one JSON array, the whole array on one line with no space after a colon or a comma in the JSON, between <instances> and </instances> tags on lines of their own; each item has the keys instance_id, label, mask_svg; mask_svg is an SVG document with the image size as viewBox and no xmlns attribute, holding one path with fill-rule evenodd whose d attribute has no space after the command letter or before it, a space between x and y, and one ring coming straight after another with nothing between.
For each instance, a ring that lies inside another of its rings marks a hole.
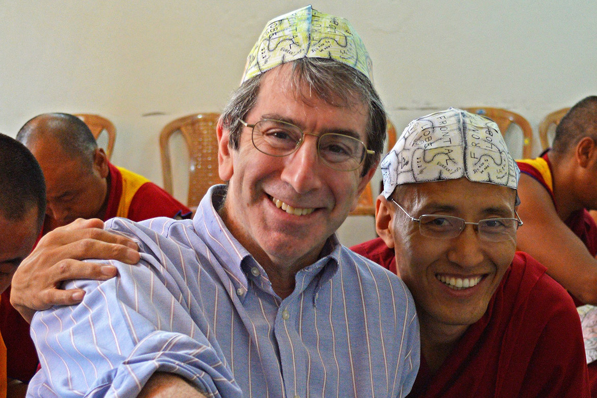
<instances>
[{"instance_id":1,"label":"balding monk with bowed head behind the hand on the striped shoulder","mask_svg":"<svg viewBox=\"0 0 597 398\"><path fill-rule=\"evenodd\" d=\"M33 153L44 173L47 208L42 235L77 218L142 221L160 216L190 217L187 206L165 190L139 174L112 165L90 129L76 116L35 116L21 127L17 141ZM114 267L102 270L106 277L116 273ZM10 305L10 294L10 288L2 294L0 331L8 348L8 374L26 382L37 370L38 358L29 324Z\"/></svg>"}]
</instances>

